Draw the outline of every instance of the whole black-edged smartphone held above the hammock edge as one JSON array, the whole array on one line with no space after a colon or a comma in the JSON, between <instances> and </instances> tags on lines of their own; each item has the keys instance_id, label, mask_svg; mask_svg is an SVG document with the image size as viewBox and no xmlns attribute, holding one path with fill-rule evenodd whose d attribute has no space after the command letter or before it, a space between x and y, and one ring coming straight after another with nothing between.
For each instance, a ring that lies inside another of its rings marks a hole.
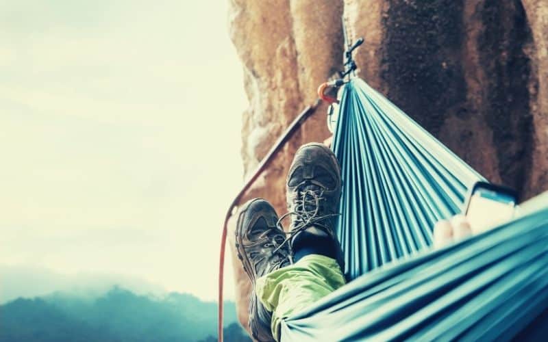
<instances>
[{"instance_id":1,"label":"whole black-edged smartphone held above the hammock edge","mask_svg":"<svg viewBox=\"0 0 548 342\"><path fill-rule=\"evenodd\" d=\"M517 193L510 187L487 182L475 183L464 204L464 213L472 233L482 233L512 219L517 200Z\"/></svg>"}]
</instances>

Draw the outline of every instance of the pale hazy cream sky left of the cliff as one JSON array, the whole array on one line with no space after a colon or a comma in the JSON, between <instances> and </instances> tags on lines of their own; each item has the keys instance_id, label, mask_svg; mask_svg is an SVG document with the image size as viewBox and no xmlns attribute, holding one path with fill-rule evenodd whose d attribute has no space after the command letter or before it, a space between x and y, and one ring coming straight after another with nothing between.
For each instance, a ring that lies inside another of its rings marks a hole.
<instances>
[{"instance_id":1,"label":"pale hazy cream sky left of the cliff","mask_svg":"<svg viewBox=\"0 0 548 342\"><path fill-rule=\"evenodd\" d=\"M227 0L0 0L0 75L0 265L214 299L247 106Z\"/></svg>"}]
</instances>

